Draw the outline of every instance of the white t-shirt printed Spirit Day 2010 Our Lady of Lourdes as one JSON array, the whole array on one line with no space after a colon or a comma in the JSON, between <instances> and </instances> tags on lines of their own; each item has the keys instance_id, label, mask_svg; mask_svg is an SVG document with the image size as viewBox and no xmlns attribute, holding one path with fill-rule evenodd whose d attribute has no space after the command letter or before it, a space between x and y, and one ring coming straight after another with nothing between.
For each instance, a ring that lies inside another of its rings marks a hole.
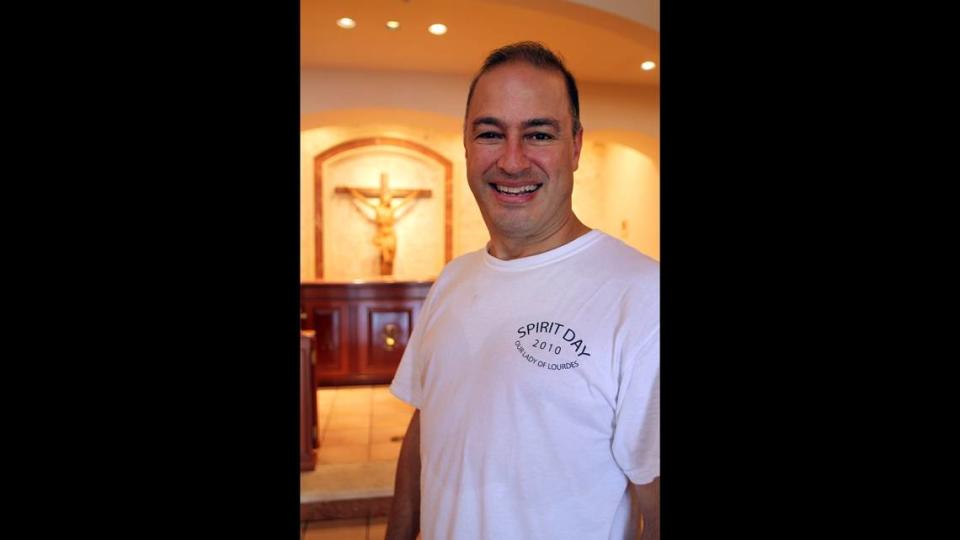
<instances>
[{"instance_id":1,"label":"white t-shirt printed Spirit Day 2010 Our Lady of Lourdes","mask_svg":"<svg viewBox=\"0 0 960 540\"><path fill-rule=\"evenodd\" d=\"M390 387L420 409L425 540L636 530L628 479L660 474L659 268L596 230L447 265Z\"/></svg>"}]
</instances>

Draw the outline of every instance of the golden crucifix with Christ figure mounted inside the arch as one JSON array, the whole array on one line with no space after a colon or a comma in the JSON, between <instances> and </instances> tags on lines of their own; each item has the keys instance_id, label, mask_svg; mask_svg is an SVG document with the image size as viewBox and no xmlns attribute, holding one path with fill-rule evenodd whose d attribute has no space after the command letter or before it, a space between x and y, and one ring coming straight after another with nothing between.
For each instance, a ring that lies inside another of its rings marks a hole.
<instances>
[{"instance_id":1,"label":"golden crucifix with Christ figure mounted inside the arch","mask_svg":"<svg viewBox=\"0 0 960 540\"><path fill-rule=\"evenodd\" d=\"M430 197L429 189L390 189L387 173L380 173L380 191L372 189L357 189L337 186L335 193L346 193L353 196L355 204L361 208L361 213L368 220L377 225L377 234L373 237L373 245L380 248L380 275L393 274L393 260L397 253L397 234L393 229L394 222L400 215L409 209L410 204L418 198ZM400 203L393 205L393 198L400 197ZM369 199L377 199L377 203ZM359 205L372 210L372 216L363 211Z\"/></svg>"}]
</instances>

